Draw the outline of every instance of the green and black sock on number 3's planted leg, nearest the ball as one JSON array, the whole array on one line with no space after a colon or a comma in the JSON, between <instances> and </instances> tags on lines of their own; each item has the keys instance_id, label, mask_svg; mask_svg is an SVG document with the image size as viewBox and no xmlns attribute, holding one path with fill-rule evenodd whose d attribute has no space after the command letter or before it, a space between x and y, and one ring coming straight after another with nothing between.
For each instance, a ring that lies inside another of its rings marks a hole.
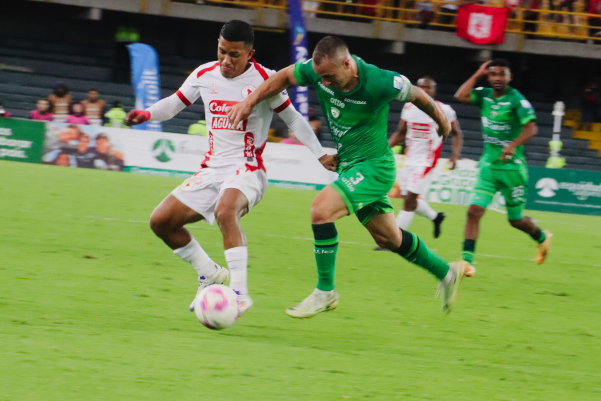
<instances>
[{"instance_id":1,"label":"green and black sock on number 3's planted leg, nearest the ball","mask_svg":"<svg viewBox=\"0 0 601 401\"><path fill-rule=\"evenodd\" d=\"M315 260L317 262L317 289L334 289L334 269L338 251L338 231L334 223L313 224Z\"/></svg>"}]
</instances>

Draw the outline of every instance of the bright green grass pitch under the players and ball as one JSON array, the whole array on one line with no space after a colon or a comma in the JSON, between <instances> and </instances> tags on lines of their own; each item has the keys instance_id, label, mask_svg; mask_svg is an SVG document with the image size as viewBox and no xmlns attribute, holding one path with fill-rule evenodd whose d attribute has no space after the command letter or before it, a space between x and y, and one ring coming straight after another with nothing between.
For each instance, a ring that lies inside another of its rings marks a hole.
<instances>
[{"instance_id":1,"label":"bright green grass pitch under the players and ball","mask_svg":"<svg viewBox=\"0 0 601 401\"><path fill-rule=\"evenodd\" d=\"M295 320L316 284L316 192L269 188L243 218L254 307L210 331L188 305L191 266L145 223L181 180L0 162L0 400L600 400L601 218L529 212L549 260L487 212L477 277L440 313L436 281L337 222L340 307ZM394 201L398 209L399 201ZM465 207L440 239L457 259ZM218 263L221 234L192 233Z\"/></svg>"}]
</instances>

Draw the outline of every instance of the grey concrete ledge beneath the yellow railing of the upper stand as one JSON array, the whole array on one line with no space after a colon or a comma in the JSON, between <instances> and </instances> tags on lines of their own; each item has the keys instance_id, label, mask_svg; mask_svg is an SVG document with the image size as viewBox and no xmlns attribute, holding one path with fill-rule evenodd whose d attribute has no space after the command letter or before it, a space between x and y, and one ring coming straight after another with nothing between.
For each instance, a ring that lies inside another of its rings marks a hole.
<instances>
[{"instance_id":1,"label":"grey concrete ledge beneath the yellow railing of the upper stand","mask_svg":"<svg viewBox=\"0 0 601 401\"><path fill-rule=\"evenodd\" d=\"M79 7L103 8L106 10L126 11L164 15L188 19L227 22L241 19L254 26L282 29L285 26L284 10L260 8L243 10L213 5L201 5L168 0L29 0L76 5ZM557 41L527 39L522 34L505 34L505 42L494 45L479 45L463 40L454 32L432 31L427 29L406 28L402 23L374 20L373 22L350 22L324 18L306 20L307 30L323 34L356 36L391 41L385 51L401 54L404 42L433 44L438 46L464 47L468 49L489 49L492 51L520 52L567 57L601 59L601 45L578 43L575 41Z\"/></svg>"}]
</instances>

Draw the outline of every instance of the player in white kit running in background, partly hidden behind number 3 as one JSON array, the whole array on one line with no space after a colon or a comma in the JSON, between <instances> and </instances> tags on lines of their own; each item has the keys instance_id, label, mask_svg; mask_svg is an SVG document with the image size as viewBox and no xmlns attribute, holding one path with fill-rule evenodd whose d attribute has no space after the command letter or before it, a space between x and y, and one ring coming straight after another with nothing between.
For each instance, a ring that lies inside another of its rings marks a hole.
<instances>
[{"instance_id":1,"label":"player in white kit running in background, partly hidden behind number 3","mask_svg":"<svg viewBox=\"0 0 601 401\"><path fill-rule=\"evenodd\" d=\"M436 95L436 81L429 76L418 79L418 87L422 88L431 97ZM450 136L453 138L453 153L449 159L449 168L455 168L457 159L463 145L463 133L457 121L457 114L449 105L436 101L442 111L451 121ZM436 162L442 152L442 137L436 133L436 123L426 113L416 108L412 103L405 103L401 112L401 121L397 130L388 140L392 147L404 140L405 162L401 177L401 194L404 195L403 210L398 213L397 225L407 230L417 213L432 220L434 224L434 237L441 234L441 224L445 219L445 213L438 213L429 203L418 199L423 195L429 183L429 173L436 167Z\"/></svg>"}]
</instances>

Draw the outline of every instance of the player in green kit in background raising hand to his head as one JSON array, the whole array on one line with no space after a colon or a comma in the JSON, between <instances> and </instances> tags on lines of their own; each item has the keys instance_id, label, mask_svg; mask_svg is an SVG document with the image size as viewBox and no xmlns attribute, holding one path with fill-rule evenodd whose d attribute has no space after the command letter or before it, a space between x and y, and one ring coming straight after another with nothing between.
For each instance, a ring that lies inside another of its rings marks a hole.
<instances>
[{"instance_id":1,"label":"player in green kit in background raising hand to his head","mask_svg":"<svg viewBox=\"0 0 601 401\"><path fill-rule=\"evenodd\" d=\"M492 88L472 89L483 76L488 77ZM541 231L531 218L523 215L528 197L528 167L523 145L538 132L536 115L530 102L511 88L509 82L509 62L496 59L482 64L455 94L456 99L480 107L484 139L478 180L469 200L462 259L473 262L480 219L493 196L501 191L509 224L538 243L535 262L540 265L547 259L553 234Z\"/></svg>"}]
</instances>

